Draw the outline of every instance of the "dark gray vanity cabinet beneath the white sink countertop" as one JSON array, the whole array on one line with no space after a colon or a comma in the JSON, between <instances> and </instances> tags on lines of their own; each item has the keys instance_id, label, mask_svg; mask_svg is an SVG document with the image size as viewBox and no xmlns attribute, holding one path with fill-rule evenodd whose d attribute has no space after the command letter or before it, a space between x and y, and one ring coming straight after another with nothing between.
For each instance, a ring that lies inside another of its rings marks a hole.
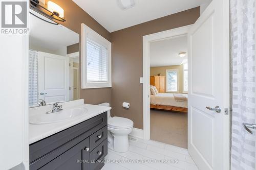
<instances>
[{"instance_id":1,"label":"dark gray vanity cabinet beneath the white sink countertop","mask_svg":"<svg viewBox=\"0 0 256 170\"><path fill-rule=\"evenodd\" d=\"M30 144L30 170L101 169L108 154L107 113Z\"/></svg>"}]
</instances>

